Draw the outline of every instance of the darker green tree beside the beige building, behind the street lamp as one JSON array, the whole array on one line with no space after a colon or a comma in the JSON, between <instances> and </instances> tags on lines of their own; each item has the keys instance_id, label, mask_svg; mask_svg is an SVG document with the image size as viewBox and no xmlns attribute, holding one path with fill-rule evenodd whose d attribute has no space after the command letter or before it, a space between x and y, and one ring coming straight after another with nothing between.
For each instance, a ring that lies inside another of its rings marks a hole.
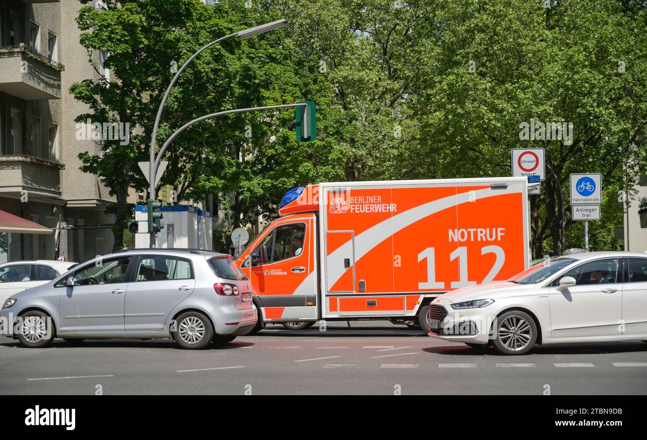
<instances>
[{"instance_id":1,"label":"darker green tree beside the beige building, behind the street lamp","mask_svg":"<svg viewBox=\"0 0 647 440\"><path fill-rule=\"evenodd\" d=\"M91 3L80 0L83 5ZM122 247L123 230L131 209L127 206L129 188L141 191L147 184L137 162L148 160L149 142L155 114L162 94L168 86L177 65L214 36L230 34L239 27L229 20L224 7L212 8L197 0L123 0L104 1L107 10L83 6L76 19L82 34L80 43L96 65L96 52L105 50L109 56L105 68L113 72L111 82L103 76L74 83L70 93L89 106L89 111L76 120L85 122L117 122L129 124L133 133L130 142L100 142L102 154L82 153L82 170L104 179L110 195L116 198L111 212L116 215L113 234L115 248ZM240 47L236 39L223 42L209 51L207 60L194 63L173 90L169 109L160 126L160 142L172 131L194 117L211 113L207 107L228 100L228 83L232 72L226 59ZM217 60L217 63L213 61ZM219 78L218 82L195 80L207 71ZM195 145L204 140L204 131L193 131L175 142L170 158L181 162L200 154ZM173 181L172 173L162 184Z\"/></svg>"}]
</instances>

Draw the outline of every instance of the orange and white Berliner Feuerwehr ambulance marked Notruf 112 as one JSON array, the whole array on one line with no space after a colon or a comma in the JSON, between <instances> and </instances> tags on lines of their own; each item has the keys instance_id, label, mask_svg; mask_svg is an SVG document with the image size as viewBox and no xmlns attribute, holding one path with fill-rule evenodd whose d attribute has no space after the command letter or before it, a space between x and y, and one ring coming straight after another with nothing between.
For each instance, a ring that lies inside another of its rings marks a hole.
<instances>
[{"instance_id":1,"label":"orange and white Berliner Feuerwehr ambulance marked Notruf 112","mask_svg":"<svg viewBox=\"0 0 647 440\"><path fill-rule=\"evenodd\" d=\"M429 303L529 267L523 177L299 186L236 259L259 325L390 320L428 333ZM263 324L264 323L264 324Z\"/></svg>"}]
</instances>

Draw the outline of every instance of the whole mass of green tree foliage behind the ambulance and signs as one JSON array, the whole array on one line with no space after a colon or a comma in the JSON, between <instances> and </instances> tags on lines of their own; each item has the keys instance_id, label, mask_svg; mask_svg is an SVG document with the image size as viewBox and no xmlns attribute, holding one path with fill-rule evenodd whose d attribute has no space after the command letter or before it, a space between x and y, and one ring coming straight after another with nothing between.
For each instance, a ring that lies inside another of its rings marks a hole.
<instances>
[{"instance_id":1,"label":"whole mass of green tree foliage behind the ambulance and signs","mask_svg":"<svg viewBox=\"0 0 647 440\"><path fill-rule=\"evenodd\" d=\"M181 199L228 195L222 201L235 227L252 214L276 214L281 195L298 184L505 176L511 148L542 147L550 169L542 195L531 199L535 256L562 252L558 182L567 247L582 246L567 203L570 173L602 173L603 217L590 225L592 243L617 245L618 192L647 163L639 143L647 8L629 0L138 0L83 8L82 45L109 50L118 81L73 85L91 107L78 119L139 127L129 146L107 142L103 157L82 155L83 169L105 177L116 195L117 213L127 211L124 188L145 186L136 162L148 160L173 65L209 41L281 17L289 27L229 39L196 58L173 88L158 142L206 113L302 100L317 104L318 140L294 140L294 111L201 122L165 158L162 184L177 186ZM573 141L522 140L520 124L531 119L572 123Z\"/></svg>"}]
</instances>

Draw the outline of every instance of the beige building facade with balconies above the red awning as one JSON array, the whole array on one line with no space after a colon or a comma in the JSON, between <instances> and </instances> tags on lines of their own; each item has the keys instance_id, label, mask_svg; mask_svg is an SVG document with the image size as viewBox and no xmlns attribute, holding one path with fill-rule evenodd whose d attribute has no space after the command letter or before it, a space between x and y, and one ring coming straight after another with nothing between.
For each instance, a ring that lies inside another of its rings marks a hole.
<instances>
[{"instance_id":1,"label":"beige building facade with balconies above the red awning","mask_svg":"<svg viewBox=\"0 0 647 440\"><path fill-rule=\"evenodd\" d=\"M74 119L88 111L69 93L72 83L98 75L80 45L75 0L0 0L0 209L50 228L106 225L114 201L101 179L83 173L79 153L99 154L94 140L77 138ZM100 4L96 7L101 7ZM109 229L64 230L60 255L85 261L110 252ZM53 259L55 236L4 234L0 262Z\"/></svg>"}]
</instances>

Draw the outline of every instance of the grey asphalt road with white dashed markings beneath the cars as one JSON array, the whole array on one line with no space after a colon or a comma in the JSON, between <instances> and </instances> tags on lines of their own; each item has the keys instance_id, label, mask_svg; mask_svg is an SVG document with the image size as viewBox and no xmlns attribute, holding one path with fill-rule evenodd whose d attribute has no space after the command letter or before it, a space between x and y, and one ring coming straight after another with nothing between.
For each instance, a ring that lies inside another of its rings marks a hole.
<instances>
[{"instance_id":1,"label":"grey asphalt road with white dashed markings beneath the cars","mask_svg":"<svg viewBox=\"0 0 647 440\"><path fill-rule=\"evenodd\" d=\"M26 349L0 337L0 371L0 394L644 395L647 344L536 346L505 357L389 322L337 322L325 332L270 325L202 351L170 340Z\"/></svg>"}]
</instances>

